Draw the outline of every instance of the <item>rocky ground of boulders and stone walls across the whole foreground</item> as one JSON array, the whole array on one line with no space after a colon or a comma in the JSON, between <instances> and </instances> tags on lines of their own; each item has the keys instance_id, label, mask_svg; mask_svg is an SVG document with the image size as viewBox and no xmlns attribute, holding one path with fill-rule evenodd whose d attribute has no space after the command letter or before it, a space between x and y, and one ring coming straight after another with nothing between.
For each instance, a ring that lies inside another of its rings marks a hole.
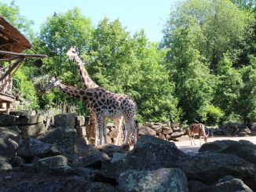
<instances>
[{"instance_id":1,"label":"rocky ground of boulders and stone walls across the whole foreground","mask_svg":"<svg viewBox=\"0 0 256 192\"><path fill-rule=\"evenodd\" d=\"M256 125L225 125L216 133L243 137L214 136L201 147L196 139L191 147L179 124L148 123L129 150L93 147L75 114L56 115L50 129L42 120L0 116L0 192L256 191Z\"/></svg>"}]
</instances>

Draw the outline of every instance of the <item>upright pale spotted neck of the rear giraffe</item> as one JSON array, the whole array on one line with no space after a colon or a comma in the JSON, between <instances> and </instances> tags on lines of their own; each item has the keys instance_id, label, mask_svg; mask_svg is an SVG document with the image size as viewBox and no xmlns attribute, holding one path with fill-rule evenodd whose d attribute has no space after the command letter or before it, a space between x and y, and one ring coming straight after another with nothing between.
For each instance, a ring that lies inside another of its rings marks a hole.
<instances>
[{"instance_id":1,"label":"upright pale spotted neck of the rear giraffe","mask_svg":"<svg viewBox=\"0 0 256 192\"><path fill-rule=\"evenodd\" d=\"M82 85L84 86L84 88L90 89L90 88L99 87L99 85L97 85L95 82L93 82L93 80L90 78L90 75L86 71L86 67L85 67L84 63L82 63L82 60L80 59L80 57L75 56L74 59L75 59L76 66L79 69L79 74L81 76Z\"/></svg>"}]
</instances>

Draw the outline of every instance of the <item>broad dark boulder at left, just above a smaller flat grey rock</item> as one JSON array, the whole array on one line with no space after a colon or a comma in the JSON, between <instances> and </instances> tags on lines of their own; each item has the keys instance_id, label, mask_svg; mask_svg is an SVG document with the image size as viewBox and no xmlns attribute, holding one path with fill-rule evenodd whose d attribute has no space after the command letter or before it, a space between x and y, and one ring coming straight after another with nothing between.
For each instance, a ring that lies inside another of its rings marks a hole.
<instances>
[{"instance_id":1,"label":"broad dark boulder at left, just above a smaller flat grey rock","mask_svg":"<svg viewBox=\"0 0 256 192\"><path fill-rule=\"evenodd\" d=\"M58 154L61 154L61 151L58 149L57 145L43 143L33 138L24 139L17 149L17 155L20 157L32 158L37 156L38 158L47 158Z\"/></svg>"}]
</instances>

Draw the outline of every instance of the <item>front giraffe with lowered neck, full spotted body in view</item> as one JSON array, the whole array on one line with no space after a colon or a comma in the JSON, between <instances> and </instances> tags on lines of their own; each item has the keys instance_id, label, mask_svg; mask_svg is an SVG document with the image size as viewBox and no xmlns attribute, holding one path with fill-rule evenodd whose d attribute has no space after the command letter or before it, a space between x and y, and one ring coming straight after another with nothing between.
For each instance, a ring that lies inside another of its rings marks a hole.
<instances>
[{"instance_id":1,"label":"front giraffe with lowered neck, full spotted body in view","mask_svg":"<svg viewBox=\"0 0 256 192\"><path fill-rule=\"evenodd\" d=\"M103 128L105 127L105 118L120 118L124 117L126 122L126 144L129 144L131 129L133 130L134 140L137 142L137 126L135 125L134 116L137 110L136 103L129 97L110 92L101 87L84 89L76 88L60 82L56 78L51 78L45 87L45 92L54 87L59 88L62 92L79 100L86 100L92 104L93 113L96 114L97 124L99 127L100 144L103 144ZM104 129L104 135L107 135L107 130ZM104 142L107 143L107 137L104 137Z\"/></svg>"}]
</instances>

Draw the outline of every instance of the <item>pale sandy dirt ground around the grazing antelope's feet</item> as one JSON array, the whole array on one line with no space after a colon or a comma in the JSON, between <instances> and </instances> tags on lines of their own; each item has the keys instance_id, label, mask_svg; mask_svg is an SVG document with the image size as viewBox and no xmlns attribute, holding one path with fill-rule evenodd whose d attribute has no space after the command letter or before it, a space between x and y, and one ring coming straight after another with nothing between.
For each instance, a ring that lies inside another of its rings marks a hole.
<instances>
[{"instance_id":1,"label":"pale sandy dirt ground around the grazing antelope's feet","mask_svg":"<svg viewBox=\"0 0 256 192\"><path fill-rule=\"evenodd\" d=\"M215 140L249 140L251 141L251 143L256 144L256 136L246 136L246 137L238 137L238 136L214 136L214 137L208 137L207 142L213 142ZM192 142L192 146L191 146L191 140L188 137L184 137L182 139L180 139L180 141L175 141L175 145L177 146L177 148L179 148L180 150L182 150L185 153L188 152L194 152L197 153L199 150L199 139L195 139L196 142L196 146L194 146L194 143ZM201 139L201 143L203 145L204 140Z\"/></svg>"}]
</instances>

